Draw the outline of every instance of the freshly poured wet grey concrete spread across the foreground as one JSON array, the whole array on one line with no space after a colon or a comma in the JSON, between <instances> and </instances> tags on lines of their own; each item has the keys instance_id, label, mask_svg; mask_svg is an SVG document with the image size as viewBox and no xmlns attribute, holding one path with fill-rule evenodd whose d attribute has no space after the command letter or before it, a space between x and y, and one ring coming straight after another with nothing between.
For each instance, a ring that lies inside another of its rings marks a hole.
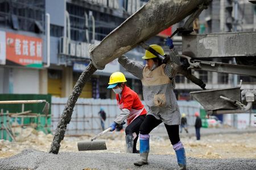
<instances>
[{"instance_id":1,"label":"freshly poured wet grey concrete spread across the foreground","mask_svg":"<svg viewBox=\"0 0 256 170\"><path fill-rule=\"evenodd\" d=\"M138 154L60 152L38 150L0 159L0 169L179 169L175 155L150 155L148 165L135 167ZM256 169L256 159L197 159L187 157L188 169Z\"/></svg>"}]
</instances>

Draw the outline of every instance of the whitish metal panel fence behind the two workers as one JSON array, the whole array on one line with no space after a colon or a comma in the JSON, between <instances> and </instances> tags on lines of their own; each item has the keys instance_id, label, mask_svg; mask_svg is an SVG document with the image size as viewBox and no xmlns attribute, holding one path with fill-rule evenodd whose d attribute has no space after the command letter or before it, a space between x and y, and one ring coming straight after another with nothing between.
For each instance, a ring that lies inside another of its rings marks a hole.
<instances>
[{"instance_id":1,"label":"whitish metal panel fence behind the two workers","mask_svg":"<svg viewBox=\"0 0 256 170\"><path fill-rule=\"evenodd\" d=\"M63 113L66 102L67 98L52 97L51 130L53 133L55 132L57 123ZM200 104L196 101L178 101L178 105L180 106L180 113L185 113L187 115L188 125L193 125L195 123L195 117L193 115L196 111L200 112ZM76 102L71 122L68 124L66 134L82 135L88 132L95 133L101 131L100 117L98 115L101 107L104 108L104 111L106 112L106 128L120 113L117 101L115 99L79 98Z\"/></svg>"}]
</instances>

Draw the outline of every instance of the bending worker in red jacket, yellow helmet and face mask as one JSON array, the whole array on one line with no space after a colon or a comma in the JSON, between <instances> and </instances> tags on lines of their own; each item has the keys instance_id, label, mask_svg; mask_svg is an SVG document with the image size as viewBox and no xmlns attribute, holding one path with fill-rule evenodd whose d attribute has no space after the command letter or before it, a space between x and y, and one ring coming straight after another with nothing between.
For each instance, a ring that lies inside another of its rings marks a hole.
<instances>
[{"instance_id":1,"label":"bending worker in red jacket, yellow helmet and face mask","mask_svg":"<svg viewBox=\"0 0 256 170\"><path fill-rule=\"evenodd\" d=\"M120 114L114 119L110 127L112 131L117 125L122 125L125 119L127 127L125 128L125 141L127 153L139 153L136 149L136 144L139 135L139 127L146 118L147 111L144 108L137 93L126 86L125 75L121 72L114 72L109 78L108 89L113 89L117 99L117 105L120 109Z\"/></svg>"}]
</instances>

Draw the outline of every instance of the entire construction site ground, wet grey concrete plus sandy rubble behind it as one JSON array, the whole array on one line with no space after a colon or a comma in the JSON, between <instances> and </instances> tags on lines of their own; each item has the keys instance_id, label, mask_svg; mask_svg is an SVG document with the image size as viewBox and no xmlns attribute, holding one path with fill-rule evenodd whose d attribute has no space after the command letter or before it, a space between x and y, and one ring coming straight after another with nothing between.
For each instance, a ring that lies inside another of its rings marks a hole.
<instances>
[{"instance_id":1,"label":"entire construction site ground, wet grey concrete plus sandy rubble behind it","mask_svg":"<svg viewBox=\"0 0 256 170\"><path fill-rule=\"evenodd\" d=\"M180 134L188 169L256 169L256 127L201 128L201 140L196 140L193 127L188 131ZM77 150L78 141L94 135L65 136L54 155L48 154L53 135L26 128L17 142L0 140L0 169L179 169L163 125L151 132L149 164L142 167L133 165L139 154L125 153L123 131L101 136L108 150Z\"/></svg>"}]
</instances>

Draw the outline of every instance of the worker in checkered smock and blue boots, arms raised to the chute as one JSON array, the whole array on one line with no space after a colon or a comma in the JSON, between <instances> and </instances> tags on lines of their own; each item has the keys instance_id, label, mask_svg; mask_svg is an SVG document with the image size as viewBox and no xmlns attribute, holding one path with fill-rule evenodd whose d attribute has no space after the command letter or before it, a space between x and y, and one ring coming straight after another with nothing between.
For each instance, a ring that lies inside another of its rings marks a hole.
<instances>
[{"instance_id":1,"label":"worker in checkered smock and blue boots, arms raised to the chute","mask_svg":"<svg viewBox=\"0 0 256 170\"><path fill-rule=\"evenodd\" d=\"M172 39L167 38L166 45L170 48L170 56L165 55L163 48L159 45L150 45L160 55L170 57L166 64L163 64L162 60L147 50L142 57L142 59L146 60L146 65L136 63L124 55L118 59L118 62L126 71L142 81L143 98L148 106L147 116L139 130L140 159L134 164L138 166L148 164L147 158L150 151L149 134L163 122L176 152L177 163L180 169L186 169L185 150L179 137L181 115L174 93L175 67L180 65L180 58L174 49Z\"/></svg>"}]
</instances>

